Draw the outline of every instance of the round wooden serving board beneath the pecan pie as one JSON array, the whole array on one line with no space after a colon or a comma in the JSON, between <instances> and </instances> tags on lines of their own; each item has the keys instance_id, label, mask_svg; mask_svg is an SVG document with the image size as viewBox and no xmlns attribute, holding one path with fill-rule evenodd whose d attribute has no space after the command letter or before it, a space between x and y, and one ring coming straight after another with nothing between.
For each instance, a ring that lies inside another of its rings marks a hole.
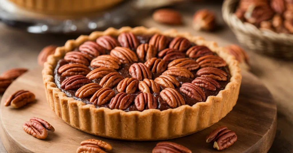
<instances>
[{"instance_id":1,"label":"round wooden serving board beneath the pecan pie","mask_svg":"<svg viewBox=\"0 0 293 153\"><path fill-rule=\"evenodd\" d=\"M125 141L98 137L77 130L50 109L41 75L42 68L25 73L6 90L1 100L1 140L9 153L14 152L62 152L73 153L80 142L89 138L106 141L113 146L113 153L151 152L158 141ZM218 152L213 143L206 143L205 137L218 126L228 126L235 131L238 140L225 152L267 152L275 137L277 108L268 89L251 73L243 73L240 95L233 110L218 123L200 132L181 138L168 140L188 147L193 152ZM30 90L36 102L21 109L5 107L4 101L16 90ZM48 132L45 140L25 133L22 125L31 117L39 117L49 122L55 132Z\"/></svg>"}]
</instances>

